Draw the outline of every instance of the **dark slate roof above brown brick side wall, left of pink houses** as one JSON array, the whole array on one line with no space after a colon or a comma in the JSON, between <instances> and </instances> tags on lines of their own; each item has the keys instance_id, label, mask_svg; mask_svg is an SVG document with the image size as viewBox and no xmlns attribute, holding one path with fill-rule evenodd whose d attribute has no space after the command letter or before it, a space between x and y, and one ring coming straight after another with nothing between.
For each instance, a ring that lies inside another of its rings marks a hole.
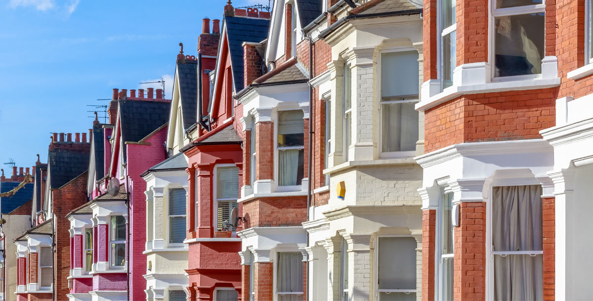
<instances>
[{"instance_id":1,"label":"dark slate roof above brown brick side wall, left of pink houses","mask_svg":"<svg viewBox=\"0 0 593 301\"><path fill-rule=\"evenodd\" d=\"M49 152L50 189L58 189L88 170L90 150L54 149Z\"/></svg>"}]
</instances>

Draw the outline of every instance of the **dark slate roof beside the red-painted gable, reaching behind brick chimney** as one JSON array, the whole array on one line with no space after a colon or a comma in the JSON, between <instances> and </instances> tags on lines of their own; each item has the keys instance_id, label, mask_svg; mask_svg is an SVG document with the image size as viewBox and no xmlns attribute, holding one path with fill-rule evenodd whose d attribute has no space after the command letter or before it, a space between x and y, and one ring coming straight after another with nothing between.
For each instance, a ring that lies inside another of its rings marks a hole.
<instances>
[{"instance_id":1,"label":"dark slate roof beside the red-painted gable, reaching behind brick chimney","mask_svg":"<svg viewBox=\"0 0 593 301\"><path fill-rule=\"evenodd\" d=\"M266 39L270 20L248 17L225 17L229 52L231 53L232 76L235 91L244 88L243 42L259 43Z\"/></svg>"}]
</instances>

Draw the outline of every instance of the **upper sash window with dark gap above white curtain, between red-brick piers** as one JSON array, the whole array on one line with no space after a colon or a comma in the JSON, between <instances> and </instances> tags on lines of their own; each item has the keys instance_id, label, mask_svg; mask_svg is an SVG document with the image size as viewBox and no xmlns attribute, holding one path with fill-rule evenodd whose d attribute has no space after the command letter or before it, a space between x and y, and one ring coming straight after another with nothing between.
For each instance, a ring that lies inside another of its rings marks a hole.
<instances>
[{"instance_id":1,"label":"upper sash window with dark gap above white curtain, between red-brick piers","mask_svg":"<svg viewBox=\"0 0 593 301\"><path fill-rule=\"evenodd\" d=\"M301 185L305 135L301 110L278 111L278 185Z\"/></svg>"}]
</instances>

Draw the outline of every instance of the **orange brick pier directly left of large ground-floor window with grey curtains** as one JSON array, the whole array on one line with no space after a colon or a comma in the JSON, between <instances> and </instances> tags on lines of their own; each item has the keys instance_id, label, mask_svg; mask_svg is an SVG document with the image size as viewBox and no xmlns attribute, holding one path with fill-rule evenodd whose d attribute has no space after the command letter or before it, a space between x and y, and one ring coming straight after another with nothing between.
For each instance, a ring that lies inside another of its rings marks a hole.
<instances>
[{"instance_id":1,"label":"orange brick pier directly left of large ground-floor window with grey curtains","mask_svg":"<svg viewBox=\"0 0 593 301\"><path fill-rule=\"evenodd\" d=\"M461 203L454 228L453 299L486 298L486 203ZM433 257L434 258L434 255Z\"/></svg>"}]
</instances>

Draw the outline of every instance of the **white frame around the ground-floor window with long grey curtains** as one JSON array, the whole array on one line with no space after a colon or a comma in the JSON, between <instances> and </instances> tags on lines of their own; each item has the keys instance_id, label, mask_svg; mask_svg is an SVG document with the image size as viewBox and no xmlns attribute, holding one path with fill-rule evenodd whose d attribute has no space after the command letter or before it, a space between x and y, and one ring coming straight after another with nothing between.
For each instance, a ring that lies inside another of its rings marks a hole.
<instances>
[{"instance_id":1,"label":"white frame around the ground-floor window with long grey curtains","mask_svg":"<svg viewBox=\"0 0 593 301\"><path fill-rule=\"evenodd\" d=\"M488 189L486 201L486 300L494 299L494 256L503 254L543 254L543 251L493 251L492 245L492 188L498 186L541 185L535 178L505 178L493 180Z\"/></svg>"}]
</instances>

